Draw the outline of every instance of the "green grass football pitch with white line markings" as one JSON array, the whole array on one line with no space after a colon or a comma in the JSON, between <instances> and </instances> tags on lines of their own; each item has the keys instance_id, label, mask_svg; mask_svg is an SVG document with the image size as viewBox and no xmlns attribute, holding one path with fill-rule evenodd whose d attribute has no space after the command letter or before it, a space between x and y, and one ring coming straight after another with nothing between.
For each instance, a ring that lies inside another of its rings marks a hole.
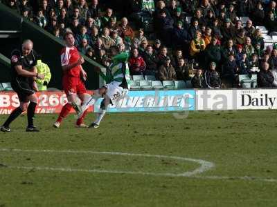
<instances>
[{"instance_id":1,"label":"green grass football pitch with white line markings","mask_svg":"<svg viewBox=\"0 0 277 207\"><path fill-rule=\"evenodd\" d=\"M277 206L275 110L107 114L97 129L56 118L1 132L1 207Z\"/></svg>"}]
</instances>

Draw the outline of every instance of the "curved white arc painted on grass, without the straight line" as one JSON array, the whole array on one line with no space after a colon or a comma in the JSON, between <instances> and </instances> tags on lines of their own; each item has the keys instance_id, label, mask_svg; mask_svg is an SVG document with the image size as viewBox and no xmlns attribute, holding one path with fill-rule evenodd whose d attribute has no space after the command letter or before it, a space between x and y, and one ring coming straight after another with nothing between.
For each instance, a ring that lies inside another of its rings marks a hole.
<instances>
[{"instance_id":1,"label":"curved white arc painted on grass, without the straight line","mask_svg":"<svg viewBox=\"0 0 277 207\"><path fill-rule=\"evenodd\" d=\"M120 170L85 170L72 168L48 168L48 167L26 167L26 166L8 166L8 168L21 169L37 169L37 170L59 170L64 172L99 172L99 173L116 173L116 174L133 174L133 175L154 175L154 176L170 176L170 177L190 177L199 173L210 170L215 165L210 161L202 159L191 159L186 157L166 156L166 155L149 155L149 154L132 154L125 152L94 152L84 150L21 150L21 149L0 149L1 152L46 152L46 153L72 153L72 154L95 154L95 155L120 155L120 156L136 156L136 157L156 157L163 159L175 159L180 161L195 162L200 165L193 171L183 173L159 173L159 172L142 172L142 171L120 171Z\"/></svg>"}]
</instances>

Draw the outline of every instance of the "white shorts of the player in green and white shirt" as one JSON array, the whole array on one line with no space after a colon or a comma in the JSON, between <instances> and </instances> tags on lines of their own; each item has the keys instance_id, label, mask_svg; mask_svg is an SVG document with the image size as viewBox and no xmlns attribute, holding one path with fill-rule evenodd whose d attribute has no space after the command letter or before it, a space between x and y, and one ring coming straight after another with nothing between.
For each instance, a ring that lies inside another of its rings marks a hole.
<instances>
[{"instance_id":1,"label":"white shorts of the player in green and white shirt","mask_svg":"<svg viewBox=\"0 0 277 207\"><path fill-rule=\"evenodd\" d=\"M106 95L111 99L112 105L116 105L116 102L127 95L128 90L119 86L120 83L113 81L104 87L107 88Z\"/></svg>"}]
</instances>

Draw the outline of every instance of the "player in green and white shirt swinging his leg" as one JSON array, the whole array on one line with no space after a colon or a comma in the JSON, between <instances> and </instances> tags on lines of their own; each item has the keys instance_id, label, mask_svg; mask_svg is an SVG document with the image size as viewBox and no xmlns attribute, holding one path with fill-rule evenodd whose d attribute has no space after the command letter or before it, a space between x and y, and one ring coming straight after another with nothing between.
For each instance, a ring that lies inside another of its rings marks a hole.
<instances>
[{"instance_id":1,"label":"player in green and white shirt swinging his leg","mask_svg":"<svg viewBox=\"0 0 277 207\"><path fill-rule=\"evenodd\" d=\"M82 106L82 111L78 114L78 117L82 116L82 113L89 108L89 106L96 103L96 100L104 96L100 104L100 112L94 121L89 127L98 128L100 121L106 113L107 106L109 104L116 105L116 102L124 97L129 88L131 79L129 76L129 67L128 67L128 53L124 51L125 46L123 44L111 47L111 64L107 68L107 75L101 75L103 79L107 82L105 86L94 90L91 99L84 103ZM97 68L100 72L100 68Z\"/></svg>"}]
</instances>

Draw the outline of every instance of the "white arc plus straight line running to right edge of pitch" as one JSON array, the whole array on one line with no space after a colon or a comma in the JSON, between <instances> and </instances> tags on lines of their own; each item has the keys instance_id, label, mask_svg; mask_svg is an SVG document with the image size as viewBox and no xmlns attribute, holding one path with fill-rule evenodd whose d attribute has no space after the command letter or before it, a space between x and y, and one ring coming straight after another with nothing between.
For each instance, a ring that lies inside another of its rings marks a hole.
<instances>
[{"instance_id":1,"label":"white arc plus straight line running to right edge of pitch","mask_svg":"<svg viewBox=\"0 0 277 207\"><path fill-rule=\"evenodd\" d=\"M186 157L166 156L166 155L149 155L149 154L132 154L126 152L95 152L87 150L23 150L23 149L7 149L0 148L0 152L33 152L33 153L67 153L67 154L94 154L94 155L121 155L121 156L136 156L136 157L155 157L163 159L175 159L178 161L190 161L199 164L199 168L193 171L183 173L157 173L157 172L142 172L142 171L121 171L121 170L95 170L95 169L75 169L75 168L51 168L42 166L6 166L7 168L21 169L21 170L51 170L62 172L90 172L90 173L111 173L111 174L130 174L130 175L152 175L152 176L166 176L166 177L189 177L192 179L217 179L217 180L247 180L247 181L267 181L277 182L276 178L270 177L232 177L232 176L200 176L202 172L211 170L215 166L211 161L205 161L202 159L192 159Z\"/></svg>"}]
</instances>

